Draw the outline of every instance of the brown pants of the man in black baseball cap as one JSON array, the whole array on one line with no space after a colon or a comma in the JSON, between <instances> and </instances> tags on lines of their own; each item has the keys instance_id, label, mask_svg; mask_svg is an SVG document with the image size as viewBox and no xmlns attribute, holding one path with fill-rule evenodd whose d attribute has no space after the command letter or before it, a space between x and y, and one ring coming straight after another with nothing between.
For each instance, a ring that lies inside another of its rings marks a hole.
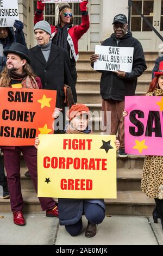
<instances>
[{"instance_id":1,"label":"brown pants of the man in black baseball cap","mask_svg":"<svg viewBox=\"0 0 163 256\"><path fill-rule=\"evenodd\" d=\"M122 115L124 111L124 101L116 100L102 100L102 111L104 111L104 125L108 125L106 120L106 112L111 112L111 133L110 135L117 135L118 141L120 141L121 147L124 148L124 117Z\"/></svg>"}]
</instances>

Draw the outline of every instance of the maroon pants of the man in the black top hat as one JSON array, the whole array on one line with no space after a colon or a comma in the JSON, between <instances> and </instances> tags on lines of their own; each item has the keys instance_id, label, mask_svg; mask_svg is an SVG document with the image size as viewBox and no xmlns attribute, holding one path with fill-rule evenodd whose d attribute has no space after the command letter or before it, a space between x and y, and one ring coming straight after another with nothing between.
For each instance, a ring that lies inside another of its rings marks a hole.
<instances>
[{"instance_id":1,"label":"maroon pants of the man in the black top hat","mask_svg":"<svg viewBox=\"0 0 163 256\"><path fill-rule=\"evenodd\" d=\"M33 180L37 193L37 150L33 146L15 147L15 149L3 149L5 169L10 193L11 210L19 211L23 208L23 198L20 182L20 156L23 154L29 173ZM43 211L53 209L55 201L53 198L40 197L40 204Z\"/></svg>"}]
</instances>

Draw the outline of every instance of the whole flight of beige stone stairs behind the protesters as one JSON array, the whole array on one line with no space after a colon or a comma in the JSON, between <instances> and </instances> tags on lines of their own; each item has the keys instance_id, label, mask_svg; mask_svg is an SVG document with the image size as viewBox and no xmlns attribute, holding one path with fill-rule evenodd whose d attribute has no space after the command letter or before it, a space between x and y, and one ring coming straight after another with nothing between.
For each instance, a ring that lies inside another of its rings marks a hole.
<instances>
[{"instance_id":1,"label":"whole flight of beige stone stairs behind the protesters","mask_svg":"<svg viewBox=\"0 0 163 256\"><path fill-rule=\"evenodd\" d=\"M101 74L92 70L90 56L93 52L82 52L77 63L78 81L77 93L78 102L85 103L90 110L101 111L101 95L99 94L99 81ZM136 95L145 94L151 81L151 71L156 52L145 53L148 69L138 81ZM93 125L100 123L100 118L93 119ZM96 131L95 133L100 133ZM117 157L117 199L105 199L106 215L142 215L152 214L154 200L149 199L145 193L140 191L142 167L144 157L129 156L128 159ZM24 198L24 212L42 212L39 200L36 197L32 180L26 178L26 163L21 156L21 186ZM0 213L10 212L10 200L0 199Z\"/></svg>"}]
</instances>

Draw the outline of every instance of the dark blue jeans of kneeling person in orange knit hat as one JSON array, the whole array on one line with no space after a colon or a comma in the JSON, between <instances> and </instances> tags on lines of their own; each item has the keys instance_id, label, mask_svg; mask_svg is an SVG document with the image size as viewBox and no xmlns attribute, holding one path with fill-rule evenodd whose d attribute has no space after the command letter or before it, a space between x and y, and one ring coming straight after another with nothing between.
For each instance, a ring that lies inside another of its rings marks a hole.
<instances>
[{"instance_id":1,"label":"dark blue jeans of kneeling person in orange knit hat","mask_svg":"<svg viewBox=\"0 0 163 256\"><path fill-rule=\"evenodd\" d=\"M89 202L84 202L84 214L87 220L93 224L100 224L105 218L103 208L98 204L92 204ZM79 235L83 228L82 218L73 225L66 225L65 228L71 236Z\"/></svg>"}]
</instances>

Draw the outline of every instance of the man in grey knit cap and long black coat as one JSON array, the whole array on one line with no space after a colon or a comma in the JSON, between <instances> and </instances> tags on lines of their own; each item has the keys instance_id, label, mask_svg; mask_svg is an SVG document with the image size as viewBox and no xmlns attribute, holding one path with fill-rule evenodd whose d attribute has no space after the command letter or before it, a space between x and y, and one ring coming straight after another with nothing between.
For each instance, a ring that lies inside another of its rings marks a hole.
<instances>
[{"instance_id":1,"label":"man in grey knit cap and long black coat","mask_svg":"<svg viewBox=\"0 0 163 256\"><path fill-rule=\"evenodd\" d=\"M36 75L41 78L43 89L57 90L56 106L64 111L64 84L71 87L74 101L77 102L68 52L52 44L51 26L48 22L37 22L34 33L37 46L29 49L30 64Z\"/></svg>"}]
</instances>

